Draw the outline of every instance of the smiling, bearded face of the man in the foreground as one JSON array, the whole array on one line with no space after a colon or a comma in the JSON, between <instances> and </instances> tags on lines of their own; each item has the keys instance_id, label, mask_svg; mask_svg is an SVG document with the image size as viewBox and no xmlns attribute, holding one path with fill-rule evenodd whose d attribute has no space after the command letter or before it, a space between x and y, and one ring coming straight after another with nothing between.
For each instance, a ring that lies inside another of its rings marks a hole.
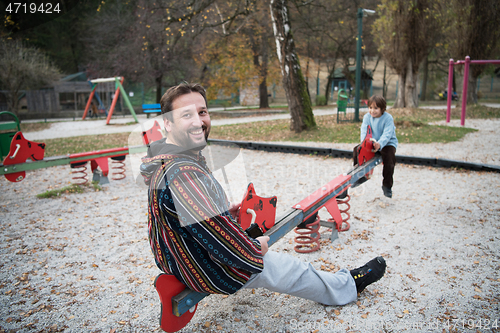
<instances>
[{"instance_id":1,"label":"smiling, bearded face of the man in the foreground","mask_svg":"<svg viewBox=\"0 0 500 333\"><path fill-rule=\"evenodd\" d=\"M203 96L197 92L181 95L172 107L172 121L165 119L166 142L194 152L203 149L210 133L210 115Z\"/></svg>"}]
</instances>

